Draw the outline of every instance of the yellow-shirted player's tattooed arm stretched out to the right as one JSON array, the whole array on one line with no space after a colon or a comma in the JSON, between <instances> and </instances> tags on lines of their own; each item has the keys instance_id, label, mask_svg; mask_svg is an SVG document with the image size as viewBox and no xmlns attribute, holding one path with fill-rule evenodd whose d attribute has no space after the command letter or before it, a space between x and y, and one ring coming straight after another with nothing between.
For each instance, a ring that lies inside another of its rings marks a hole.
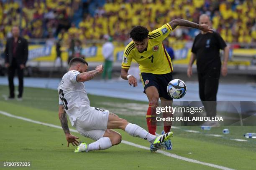
<instances>
[{"instance_id":1,"label":"yellow-shirted player's tattooed arm stretched out to the right","mask_svg":"<svg viewBox=\"0 0 256 170\"><path fill-rule=\"evenodd\" d=\"M191 28L197 28L199 30L202 30L204 32L210 32L212 33L212 28L210 28L208 25L205 24L197 24L190 22L188 20L183 20L183 19L175 19L169 22L169 25L171 25L172 29L176 28L177 26L184 26L184 27L191 27Z\"/></svg>"}]
</instances>

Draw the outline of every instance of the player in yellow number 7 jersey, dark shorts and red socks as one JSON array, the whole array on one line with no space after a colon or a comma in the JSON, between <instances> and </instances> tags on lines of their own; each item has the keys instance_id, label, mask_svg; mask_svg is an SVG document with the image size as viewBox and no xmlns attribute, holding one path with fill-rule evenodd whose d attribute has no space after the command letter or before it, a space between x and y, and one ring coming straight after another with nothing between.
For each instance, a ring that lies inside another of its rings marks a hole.
<instances>
[{"instance_id":1,"label":"player in yellow number 7 jersey, dark shorts and red socks","mask_svg":"<svg viewBox=\"0 0 256 170\"><path fill-rule=\"evenodd\" d=\"M158 107L159 98L161 107L172 106L172 98L167 94L166 87L172 80L173 67L171 58L166 52L162 41L179 25L212 32L208 25L199 25L182 19L172 20L152 32L149 32L145 27L136 26L130 32L132 41L124 50L121 77L124 80L128 80L130 85L136 87L137 80L133 75L128 74L128 70L133 59L138 62L144 93L146 93L149 101L146 115L148 132L153 135L156 133L156 107ZM172 114L164 112L163 117L166 116L172 116ZM164 131L162 133L169 132L171 125L172 122L164 122ZM165 148L172 150L170 140L165 142ZM157 149L159 148L154 148L151 145L151 151L156 151Z\"/></svg>"}]
</instances>

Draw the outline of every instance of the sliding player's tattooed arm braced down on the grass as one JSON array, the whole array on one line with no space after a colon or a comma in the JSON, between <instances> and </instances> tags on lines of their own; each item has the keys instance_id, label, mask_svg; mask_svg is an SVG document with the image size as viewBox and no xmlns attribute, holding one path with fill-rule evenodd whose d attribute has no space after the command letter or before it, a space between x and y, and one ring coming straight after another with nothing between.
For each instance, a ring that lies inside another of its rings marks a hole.
<instances>
[{"instance_id":1,"label":"sliding player's tattooed arm braced down on the grass","mask_svg":"<svg viewBox=\"0 0 256 170\"><path fill-rule=\"evenodd\" d=\"M67 114L64 110L63 105L59 105L59 120L61 122L61 127L64 130L64 133L66 135L66 140L67 140L67 146L69 147L69 143L71 143L73 146L74 145L78 145L79 141L77 139L79 139L79 137L76 137L72 134L70 134L69 132L69 126L68 126L68 122L67 122Z\"/></svg>"}]
</instances>

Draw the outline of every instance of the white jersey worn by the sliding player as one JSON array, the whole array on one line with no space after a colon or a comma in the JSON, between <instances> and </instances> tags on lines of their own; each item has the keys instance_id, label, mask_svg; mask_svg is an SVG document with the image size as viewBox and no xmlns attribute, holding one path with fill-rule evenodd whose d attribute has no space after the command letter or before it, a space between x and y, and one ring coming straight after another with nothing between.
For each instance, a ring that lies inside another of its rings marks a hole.
<instances>
[{"instance_id":1,"label":"white jersey worn by the sliding player","mask_svg":"<svg viewBox=\"0 0 256 170\"><path fill-rule=\"evenodd\" d=\"M84 83L77 82L79 74L80 72L76 70L70 70L62 77L58 86L59 105L64 106L72 126L79 115L90 109L90 101Z\"/></svg>"}]
</instances>

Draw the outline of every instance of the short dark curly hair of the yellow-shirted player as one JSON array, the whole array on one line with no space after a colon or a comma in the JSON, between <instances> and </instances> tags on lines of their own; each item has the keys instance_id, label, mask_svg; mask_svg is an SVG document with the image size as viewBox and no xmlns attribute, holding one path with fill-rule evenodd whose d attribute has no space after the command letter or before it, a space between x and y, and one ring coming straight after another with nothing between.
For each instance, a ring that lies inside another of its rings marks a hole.
<instances>
[{"instance_id":1,"label":"short dark curly hair of the yellow-shirted player","mask_svg":"<svg viewBox=\"0 0 256 170\"><path fill-rule=\"evenodd\" d=\"M138 42L143 41L148 37L148 29L143 26L136 26L130 32L130 37Z\"/></svg>"}]
</instances>

